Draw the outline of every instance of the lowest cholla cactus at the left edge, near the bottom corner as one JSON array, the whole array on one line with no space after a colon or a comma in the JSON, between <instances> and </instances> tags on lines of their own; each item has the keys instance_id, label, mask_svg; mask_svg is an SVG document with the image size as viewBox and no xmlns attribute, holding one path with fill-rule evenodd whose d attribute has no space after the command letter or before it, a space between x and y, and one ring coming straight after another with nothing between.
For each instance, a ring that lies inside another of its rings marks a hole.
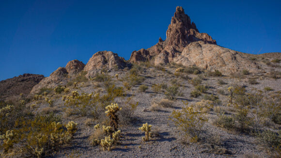
<instances>
[{"instance_id":1,"label":"lowest cholla cactus at the left edge, near the bottom corner","mask_svg":"<svg viewBox=\"0 0 281 158\"><path fill-rule=\"evenodd\" d=\"M6 134L0 135L0 139L3 140L4 152L8 152L10 148L13 148L16 141L17 133L14 130L7 130Z\"/></svg>"}]
</instances>

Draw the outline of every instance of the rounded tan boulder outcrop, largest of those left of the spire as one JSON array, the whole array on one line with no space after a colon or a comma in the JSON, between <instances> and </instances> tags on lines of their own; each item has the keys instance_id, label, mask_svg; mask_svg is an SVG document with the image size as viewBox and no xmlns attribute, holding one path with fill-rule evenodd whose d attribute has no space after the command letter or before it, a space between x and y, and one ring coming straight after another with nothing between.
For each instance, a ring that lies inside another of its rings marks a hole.
<instances>
[{"instance_id":1,"label":"rounded tan boulder outcrop, largest of those left of the spire","mask_svg":"<svg viewBox=\"0 0 281 158\"><path fill-rule=\"evenodd\" d=\"M84 71L87 71L86 77L89 78L94 77L101 69L124 69L129 65L124 58L119 57L112 51L98 51L90 58L84 67Z\"/></svg>"}]
</instances>

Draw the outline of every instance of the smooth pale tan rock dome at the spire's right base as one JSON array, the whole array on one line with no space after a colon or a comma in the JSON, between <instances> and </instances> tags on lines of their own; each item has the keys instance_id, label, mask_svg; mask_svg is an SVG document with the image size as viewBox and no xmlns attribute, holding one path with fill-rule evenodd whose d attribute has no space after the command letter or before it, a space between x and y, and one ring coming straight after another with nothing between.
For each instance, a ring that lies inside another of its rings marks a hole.
<instances>
[{"instance_id":1,"label":"smooth pale tan rock dome at the spire's right base","mask_svg":"<svg viewBox=\"0 0 281 158\"><path fill-rule=\"evenodd\" d=\"M217 45L206 44L203 41L192 42L184 48L181 55L174 58L173 62L185 66L196 65L203 69L217 69L223 74L238 72L248 69L256 72L257 65L245 58L243 53Z\"/></svg>"}]
</instances>

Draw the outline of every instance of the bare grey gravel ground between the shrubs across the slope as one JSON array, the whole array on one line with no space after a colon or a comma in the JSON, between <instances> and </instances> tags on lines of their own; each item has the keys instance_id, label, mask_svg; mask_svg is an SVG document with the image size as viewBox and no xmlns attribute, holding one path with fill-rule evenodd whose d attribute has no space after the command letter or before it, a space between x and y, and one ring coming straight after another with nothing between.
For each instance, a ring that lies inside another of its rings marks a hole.
<instances>
[{"instance_id":1,"label":"bare grey gravel ground between the shrubs across the slope","mask_svg":"<svg viewBox=\"0 0 281 158\"><path fill-rule=\"evenodd\" d=\"M169 71L174 72L174 69ZM110 72L110 75L119 74L120 78L125 76L125 72ZM91 146L89 137L94 132L93 126L86 126L85 120L87 117L64 117L63 122L73 120L78 123L78 131L74 136L74 140L71 146L62 148L61 151L57 152L53 157L79 157L79 158L224 158L224 157L244 157L245 153L254 153L261 157L267 157L264 150L262 150L255 138L243 133L235 133L226 131L223 128L212 125L212 121L217 117L214 112L209 112L207 117L209 121L205 126L206 133L209 135L219 135L222 142L222 147L225 148L229 153L225 155L212 154L204 151L210 151L203 143L186 143L183 133L173 125L172 121L169 120L169 116L175 109L181 109L184 105L183 100L187 100L189 105L194 104L197 101L202 100L203 96L198 98L191 98L190 92L194 90L194 86L188 83L187 80L183 80L183 96L179 96L174 102L173 108L161 108L160 111L150 111L151 102L153 99L162 99L165 97L164 93L156 94L152 91L151 85L155 83L169 83L174 76L167 72L154 70L154 68L146 69L142 76L146 76L146 79L141 84L147 85L149 88L145 93L138 91L138 86L132 88L127 93L133 95L134 101L139 102L139 106L135 111L136 119L130 125L121 125L122 131L121 144L113 148L112 152L102 151L99 146ZM149 76L149 77L147 77ZM188 75L189 78L194 78L197 75ZM251 76L250 76L251 77ZM217 94L217 89L227 88L228 85L222 87L217 83L218 79L223 79L227 83L231 84L238 82L241 85L246 85L247 90L252 88L263 89L264 87L272 87L274 91L281 90L281 79L269 79L260 77L257 79L259 84L250 85L246 79L230 79L229 77L207 77L203 80L203 84L211 86L208 93ZM116 79L115 79L116 80ZM93 86L93 81L85 83L83 87L78 89L79 92L91 93L97 88ZM116 86L123 86L121 81L115 81ZM218 94L217 94L218 95ZM219 95L223 97L223 95ZM122 103L124 98L116 98L117 103ZM55 102L55 106L58 107L59 112L62 112L63 102L61 98L58 98ZM47 105L41 105L38 109L47 107ZM152 125L152 130L159 133L159 137L150 140L149 142L143 142L141 137L144 133L141 132L138 127L144 123ZM228 155L229 154L229 155Z\"/></svg>"}]
</instances>

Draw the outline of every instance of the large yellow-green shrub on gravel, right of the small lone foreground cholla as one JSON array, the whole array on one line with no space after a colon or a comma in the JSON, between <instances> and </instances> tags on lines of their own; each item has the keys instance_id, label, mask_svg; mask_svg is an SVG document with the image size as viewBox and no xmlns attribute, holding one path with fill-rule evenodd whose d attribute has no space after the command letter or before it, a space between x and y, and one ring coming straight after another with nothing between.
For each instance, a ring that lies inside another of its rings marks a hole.
<instances>
[{"instance_id":1,"label":"large yellow-green shrub on gravel, right of the small lone foreground cholla","mask_svg":"<svg viewBox=\"0 0 281 158\"><path fill-rule=\"evenodd\" d=\"M198 142L203 139L203 126L208 119L202 112L196 112L192 107L187 107L188 103L185 102L186 108L178 111L172 111L170 119L180 128L190 142Z\"/></svg>"}]
</instances>

